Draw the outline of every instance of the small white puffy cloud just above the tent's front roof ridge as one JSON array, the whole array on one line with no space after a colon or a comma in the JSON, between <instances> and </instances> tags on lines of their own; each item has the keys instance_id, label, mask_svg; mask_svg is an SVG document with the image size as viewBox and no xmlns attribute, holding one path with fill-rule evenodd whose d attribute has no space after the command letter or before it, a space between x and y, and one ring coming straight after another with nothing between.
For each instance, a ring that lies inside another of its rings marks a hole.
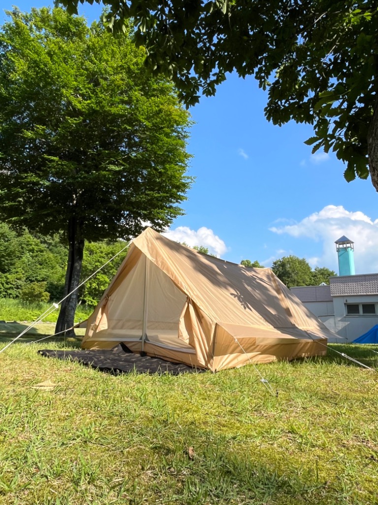
<instances>
[{"instance_id":1,"label":"small white puffy cloud just above the tent's front roof ridge","mask_svg":"<svg viewBox=\"0 0 378 505\"><path fill-rule=\"evenodd\" d=\"M218 257L227 251L227 246L223 240L215 235L213 230L205 226L197 231L191 230L187 226L178 226L174 230L167 230L163 235L176 242L185 242L190 247L203 245L209 249L209 252L216 254Z\"/></svg>"}]
</instances>

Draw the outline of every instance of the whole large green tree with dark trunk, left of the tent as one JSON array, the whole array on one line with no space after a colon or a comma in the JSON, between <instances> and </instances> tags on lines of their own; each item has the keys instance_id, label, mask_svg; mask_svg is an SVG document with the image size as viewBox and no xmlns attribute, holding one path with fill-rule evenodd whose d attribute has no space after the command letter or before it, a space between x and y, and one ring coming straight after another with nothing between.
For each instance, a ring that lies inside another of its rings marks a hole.
<instances>
[{"instance_id":1,"label":"whole large green tree with dark trunk, left of the tent","mask_svg":"<svg viewBox=\"0 0 378 505\"><path fill-rule=\"evenodd\" d=\"M85 241L162 230L182 213L188 114L152 78L130 30L113 37L65 10L14 10L0 31L0 218L64 233L65 294L79 283ZM74 322L77 291L56 331Z\"/></svg>"}]
</instances>

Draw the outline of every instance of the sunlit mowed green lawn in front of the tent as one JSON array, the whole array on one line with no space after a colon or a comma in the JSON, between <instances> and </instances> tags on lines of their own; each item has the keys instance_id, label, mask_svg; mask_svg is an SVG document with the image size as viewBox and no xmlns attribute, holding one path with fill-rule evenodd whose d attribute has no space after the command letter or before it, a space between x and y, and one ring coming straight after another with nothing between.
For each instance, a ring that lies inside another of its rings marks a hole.
<instances>
[{"instance_id":1,"label":"sunlit mowed green lawn in front of the tent","mask_svg":"<svg viewBox=\"0 0 378 505\"><path fill-rule=\"evenodd\" d=\"M378 375L331 350L258 365L276 397L253 366L114 377L47 342L0 354L2 505L378 503Z\"/></svg>"}]
</instances>

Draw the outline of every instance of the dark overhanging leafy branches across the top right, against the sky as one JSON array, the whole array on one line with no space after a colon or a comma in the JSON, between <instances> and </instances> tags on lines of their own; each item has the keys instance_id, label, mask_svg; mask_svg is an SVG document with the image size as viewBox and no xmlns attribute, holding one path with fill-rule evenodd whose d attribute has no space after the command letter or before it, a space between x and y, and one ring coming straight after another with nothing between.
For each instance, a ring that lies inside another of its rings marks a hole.
<instances>
[{"instance_id":1,"label":"dark overhanging leafy branches across the top right, against the sky","mask_svg":"<svg viewBox=\"0 0 378 505\"><path fill-rule=\"evenodd\" d=\"M79 0L61 0L76 12ZM100 0L80 0L81 3ZM147 66L169 76L188 105L227 72L269 87L266 116L310 123L313 151L335 151L345 178L378 190L376 0L102 0L109 28L134 19Z\"/></svg>"}]
</instances>

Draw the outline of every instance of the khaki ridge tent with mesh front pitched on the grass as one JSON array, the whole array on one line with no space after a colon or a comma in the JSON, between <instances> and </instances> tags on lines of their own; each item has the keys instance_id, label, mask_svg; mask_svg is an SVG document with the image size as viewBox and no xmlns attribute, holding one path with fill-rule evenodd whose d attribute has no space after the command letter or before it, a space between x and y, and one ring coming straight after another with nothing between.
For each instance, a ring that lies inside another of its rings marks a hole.
<instances>
[{"instance_id":1,"label":"khaki ridge tent with mesh front pitched on the grass","mask_svg":"<svg viewBox=\"0 0 378 505\"><path fill-rule=\"evenodd\" d=\"M147 228L87 324L83 347L210 370L321 356L335 337L274 275L199 252Z\"/></svg>"}]
</instances>

